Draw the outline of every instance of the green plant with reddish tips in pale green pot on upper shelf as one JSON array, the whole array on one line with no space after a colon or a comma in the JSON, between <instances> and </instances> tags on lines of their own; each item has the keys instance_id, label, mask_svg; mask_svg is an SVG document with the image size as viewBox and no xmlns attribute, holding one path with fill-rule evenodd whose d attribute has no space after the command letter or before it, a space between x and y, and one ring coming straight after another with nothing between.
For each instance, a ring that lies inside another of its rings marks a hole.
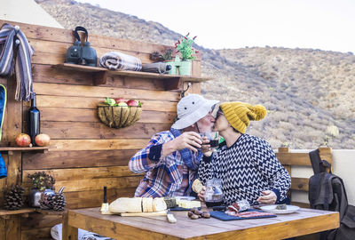
<instances>
[{"instance_id":1,"label":"green plant with reddish tips in pale green pot on upper shelf","mask_svg":"<svg viewBox=\"0 0 355 240\"><path fill-rule=\"evenodd\" d=\"M178 67L179 75L191 75L191 60L194 60L195 57L193 56L196 52L193 49L194 39L189 37L189 33L186 36L181 36L181 38L175 44L175 48L177 49L176 53L180 53L181 62Z\"/></svg>"}]
</instances>

